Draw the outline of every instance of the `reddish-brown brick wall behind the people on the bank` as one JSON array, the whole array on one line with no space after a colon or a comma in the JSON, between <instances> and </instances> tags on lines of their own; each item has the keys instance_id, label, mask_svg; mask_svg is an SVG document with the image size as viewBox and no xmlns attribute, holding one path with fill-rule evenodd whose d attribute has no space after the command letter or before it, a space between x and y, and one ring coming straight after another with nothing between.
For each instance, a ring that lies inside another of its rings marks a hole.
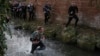
<instances>
[{"instance_id":1,"label":"reddish-brown brick wall behind the people on the bank","mask_svg":"<svg viewBox=\"0 0 100 56\"><path fill-rule=\"evenodd\" d=\"M100 28L100 1L99 0L27 0L36 6L37 16L44 19L43 6L49 3L52 6L52 20L67 22L68 8L75 1L79 8L79 24Z\"/></svg>"}]
</instances>

